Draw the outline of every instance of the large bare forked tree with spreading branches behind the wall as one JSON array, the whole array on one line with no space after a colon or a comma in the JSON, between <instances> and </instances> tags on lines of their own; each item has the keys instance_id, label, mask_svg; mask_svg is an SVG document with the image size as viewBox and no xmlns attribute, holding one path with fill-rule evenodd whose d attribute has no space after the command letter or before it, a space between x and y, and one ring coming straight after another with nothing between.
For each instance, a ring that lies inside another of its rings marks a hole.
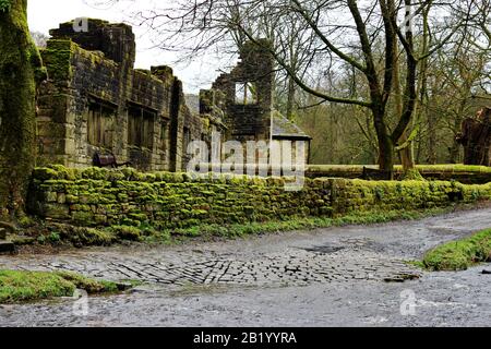
<instances>
[{"instance_id":1,"label":"large bare forked tree with spreading branches behind the wall","mask_svg":"<svg viewBox=\"0 0 491 349\"><path fill-rule=\"evenodd\" d=\"M289 76L289 87L295 83L322 103L370 111L380 168L392 176L395 151L402 153L407 170L414 167L411 146L417 133L412 122L418 93L424 92L424 83L418 80L420 67L424 70L428 58L451 41L463 25L474 21L472 25L483 27L484 35L488 33L488 19L481 16L482 9L472 10L475 3L475 0L180 0L167 9L142 12L140 19L159 32L163 48L184 48L193 55L238 39L260 45L259 37L272 38L276 45L270 48L271 53ZM426 25L412 26L410 20L421 16ZM301 29L301 35L296 36L300 40L288 40L292 37L291 33L287 35L291 23ZM427 35L422 50L418 46L421 35ZM178 45L183 43L188 47ZM300 69L296 55L288 51L295 46L302 47ZM375 46L383 48L382 55L376 55ZM331 93L316 83L314 71L343 67L361 74L367 88ZM397 108L391 110L391 104Z\"/></svg>"}]
</instances>

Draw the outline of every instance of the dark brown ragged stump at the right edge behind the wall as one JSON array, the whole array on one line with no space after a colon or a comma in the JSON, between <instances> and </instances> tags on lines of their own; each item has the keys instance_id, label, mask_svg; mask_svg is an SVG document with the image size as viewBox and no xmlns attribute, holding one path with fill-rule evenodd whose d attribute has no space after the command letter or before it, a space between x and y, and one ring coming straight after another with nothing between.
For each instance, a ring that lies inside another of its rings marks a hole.
<instances>
[{"instance_id":1,"label":"dark brown ragged stump at the right edge behind the wall","mask_svg":"<svg viewBox=\"0 0 491 349\"><path fill-rule=\"evenodd\" d=\"M491 166L491 108L464 120L457 141L464 145L464 165Z\"/></svg>"}]
</instances>

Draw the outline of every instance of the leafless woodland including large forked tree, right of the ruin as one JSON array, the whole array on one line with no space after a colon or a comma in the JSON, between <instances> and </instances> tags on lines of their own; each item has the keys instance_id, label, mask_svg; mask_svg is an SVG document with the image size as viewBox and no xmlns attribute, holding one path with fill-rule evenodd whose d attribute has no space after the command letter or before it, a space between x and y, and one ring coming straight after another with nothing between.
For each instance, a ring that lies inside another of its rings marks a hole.
<instances>
[{"instance_id":1,"label":"leafless woodland including large forked tree, right of the ruin","mask_svg":"<svg viewBox=\"0 0 491 349\"><path fill-rule=\"evenodd\" d=\"M188 59L267 38L277 109L314 137L312 161L379 164L392 178L399 160L408 174L460 160L462 121L489 105L490 11L489 0L179 0L133 17Z\"/></svg>"}]
</instances>

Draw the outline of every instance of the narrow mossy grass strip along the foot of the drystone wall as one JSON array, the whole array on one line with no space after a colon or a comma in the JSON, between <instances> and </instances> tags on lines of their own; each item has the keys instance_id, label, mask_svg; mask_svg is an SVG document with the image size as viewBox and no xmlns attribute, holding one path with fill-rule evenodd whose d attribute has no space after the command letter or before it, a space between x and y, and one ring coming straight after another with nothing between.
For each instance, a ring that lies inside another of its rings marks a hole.
<instances>
[{"instance_id":1,"label":"narrow mossy grass strip along the foot of the drystone wall","mask_svg":"<svg viewBox=\"0 0 491 349\"><path fill-rule=\"evenodd\" d=\"M158 230L149 225L136 227L115 226L107 228L84 228L64 224L38 224L29 228L31 238L19 237L14 243L23 252L44 251L55 248L108 246L112 244L145 243L172 244L182 243L190 239L235 239L247 236L287 232L296 230L312 230L318 228L338 227L346 225L382 224L394 220L411 220L453 212L468 209L476 206L454 205L446 208L431 208L427 210L391 210L364 212L337 218L327 217L290 217L287 220L272 220L265 222L201 225L182 229ZM29 246L31 245L31 246ZM33 246L34 250L33 250Z\"/></svg>"}]
</instances>

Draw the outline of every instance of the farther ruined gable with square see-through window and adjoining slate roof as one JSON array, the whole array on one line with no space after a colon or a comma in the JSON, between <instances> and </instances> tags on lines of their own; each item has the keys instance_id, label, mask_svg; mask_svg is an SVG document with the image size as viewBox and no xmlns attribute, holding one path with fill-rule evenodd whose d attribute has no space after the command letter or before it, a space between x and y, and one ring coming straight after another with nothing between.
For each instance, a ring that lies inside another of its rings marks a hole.
<instances>
[{"instance_id":1,"label":"farther ruined gable with square see-through window and adjoining slate roof","mask_svg":"<svg viewBox=\"0 0 491 349\"><path fill-rule=\"evenodd\" d=\"M201 113L221 117L227 140L292 143L294 159L295 142L304 142L308 163L311 137L273 108L275 67L270 45L265 39L247 43L237 67L218 76L212 89L201 91Z\"/></svg>"}]
</instances>

